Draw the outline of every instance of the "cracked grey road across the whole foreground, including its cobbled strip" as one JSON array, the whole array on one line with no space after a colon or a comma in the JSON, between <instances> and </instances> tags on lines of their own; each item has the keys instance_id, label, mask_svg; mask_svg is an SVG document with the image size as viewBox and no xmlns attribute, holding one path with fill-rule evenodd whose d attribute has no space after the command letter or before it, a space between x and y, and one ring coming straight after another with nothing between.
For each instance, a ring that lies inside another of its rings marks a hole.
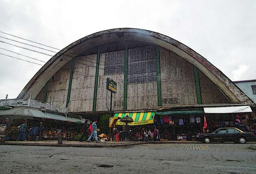
<instances>
[{"instance_id":1,"label":"cracked grey road across the whole foreground, including its cobbled strip","mask_svg":"<svg viewBox=\"0 0 256 174\"><path fill-rule=\"evenodd\" d=\"M255 174L250 144L145 144L127 148L0 145L0 173Z\"/></svg>"}]
</instances>

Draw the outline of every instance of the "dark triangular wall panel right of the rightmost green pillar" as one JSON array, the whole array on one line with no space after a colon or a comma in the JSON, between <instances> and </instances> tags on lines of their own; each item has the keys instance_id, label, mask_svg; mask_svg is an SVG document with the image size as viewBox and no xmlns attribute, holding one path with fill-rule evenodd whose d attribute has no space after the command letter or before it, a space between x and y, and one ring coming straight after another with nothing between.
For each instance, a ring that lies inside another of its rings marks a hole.
<instances>
[{"instance_id":1,"label":"dark triangular wall panel right of the rightmost green pillar","mask_svg":"<svg viewBox=\"0 0 256 174\"><path fill-rule=\"evenodd\" d=\"M205 76L201 71L199 71L198 74L202 104L230 103L229 99L207 76Z\"/></svg>"}]
</instances>

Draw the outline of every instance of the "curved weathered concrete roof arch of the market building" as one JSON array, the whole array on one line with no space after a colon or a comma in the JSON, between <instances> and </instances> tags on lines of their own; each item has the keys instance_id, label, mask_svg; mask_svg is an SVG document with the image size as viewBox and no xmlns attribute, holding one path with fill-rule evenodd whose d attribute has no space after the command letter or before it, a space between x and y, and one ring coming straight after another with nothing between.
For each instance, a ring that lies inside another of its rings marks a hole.
<instances>
[{"instance_id":1,"label":"curved weathered concrete roof arch of the market building","mask_svg":"<svg viewBox=\"0 0 256 174\"><path fill-rule=\"evenodd\" d=\"M227 76L193 49L166 35L135 28L118 28L100 31L71 43L42 66L17 98L28 98L30 91L32 92L32 98L36 98L47 81L62 66L71 61L73 57L99 45L119 41L141 41L166 48L196 66L229 97L232 103L253 103Z\"/></svg>"}]
</instances>

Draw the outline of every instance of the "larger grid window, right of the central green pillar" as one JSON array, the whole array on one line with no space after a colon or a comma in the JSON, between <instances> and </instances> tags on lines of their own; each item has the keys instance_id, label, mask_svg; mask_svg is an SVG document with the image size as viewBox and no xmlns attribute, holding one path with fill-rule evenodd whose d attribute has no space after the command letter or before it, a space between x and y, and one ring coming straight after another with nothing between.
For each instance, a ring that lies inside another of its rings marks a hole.
<instances>
[{"instance_id":1,"label":"larger grid window, right of the central green pillar","mask_svg":"<svg viewBox=\"0 0 256 174\"><path fill-rule=\"evenodd\" d=\"M128 83L156 81L156 50L153 46L128 50Z\"/></svg>"}]
</instances>

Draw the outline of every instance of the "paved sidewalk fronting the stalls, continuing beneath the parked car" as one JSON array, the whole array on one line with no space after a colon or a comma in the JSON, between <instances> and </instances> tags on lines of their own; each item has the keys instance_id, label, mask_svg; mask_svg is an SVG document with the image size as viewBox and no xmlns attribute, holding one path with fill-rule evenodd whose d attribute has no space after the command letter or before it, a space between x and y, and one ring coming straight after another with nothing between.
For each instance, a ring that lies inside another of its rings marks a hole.
<instances>
[{"instance_id":1,"label":"paved sidewalk fronting the stalls, continuing beneath the parked car","mask_svg":"<svg viewBox=\"0 0 256 174\"><path fill-rule=\"evenodd\" d=\"M88 143L80 141L67 141L63 140L62 144L58 144L57 140L45 140L45 141L6 141L5 143L0 143L0 145L25 145L25 146L56 146L56 147L118 147L118 146L130 146L130 145L139 145L139 144L197 144L201 143L199 141L108 141L106 143ZM225 142L225 144L234 144L233 142ZM219 143L214 143L219 144ZM256 142L248 142L247 144L256 144Z\"/></svg>"}]
</instances>

